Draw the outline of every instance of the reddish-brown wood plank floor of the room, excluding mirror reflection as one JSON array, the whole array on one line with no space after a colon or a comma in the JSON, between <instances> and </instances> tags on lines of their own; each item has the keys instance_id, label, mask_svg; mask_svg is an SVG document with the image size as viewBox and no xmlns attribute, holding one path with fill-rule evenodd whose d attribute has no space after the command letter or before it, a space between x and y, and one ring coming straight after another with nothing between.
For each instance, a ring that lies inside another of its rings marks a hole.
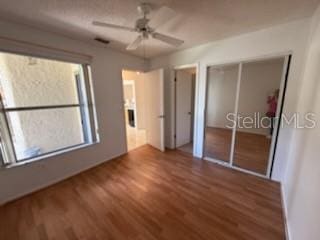
<instances>
[{"instance_id":1,"label":"reddish-brown wood plank floor of the room, excluding mirror reflection","mask_svg":"<svg viewBox=\"0 0 320 240\"><path fill-rule=\"evenodd\" d=\"M0 208L0 239L285 239L275 182L142 146Z\"/></svg>"}]
</instances>

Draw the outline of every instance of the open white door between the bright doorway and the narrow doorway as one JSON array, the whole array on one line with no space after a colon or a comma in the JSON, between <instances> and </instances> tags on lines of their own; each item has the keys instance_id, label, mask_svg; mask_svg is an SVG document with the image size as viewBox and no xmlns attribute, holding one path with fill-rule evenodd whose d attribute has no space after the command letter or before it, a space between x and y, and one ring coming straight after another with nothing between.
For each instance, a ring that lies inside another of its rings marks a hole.
<instances>
[{"instance_id":1,"label":"open white door between the bright doorway and the narrow doorway","mask_svg":"<svg viewBox=\"0 0 320 240\"><path fill-rule=\"evenodd\" d=\"M163 69L144 73L147 143L164 151Z\"/></svg>"}]
</instances>

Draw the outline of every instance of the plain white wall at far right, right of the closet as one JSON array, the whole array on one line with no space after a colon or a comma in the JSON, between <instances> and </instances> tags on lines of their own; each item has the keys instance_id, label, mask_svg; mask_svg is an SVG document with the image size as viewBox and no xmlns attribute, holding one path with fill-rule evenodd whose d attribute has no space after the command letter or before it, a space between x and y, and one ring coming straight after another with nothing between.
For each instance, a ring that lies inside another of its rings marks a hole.
<instances>
[{"instance_id":1,"label":"plain white wall at far right, right of the closet","mask_svg":"<svg viewBox=\"0 0 320 240\"><path fill-rule=\"evenodd\" d=\"M320 7L312 22L298 112L313 112L315 129L296 129L290 147L290 162L283 181L290 240L320 239Z\"/></svg>"}]
</instances>

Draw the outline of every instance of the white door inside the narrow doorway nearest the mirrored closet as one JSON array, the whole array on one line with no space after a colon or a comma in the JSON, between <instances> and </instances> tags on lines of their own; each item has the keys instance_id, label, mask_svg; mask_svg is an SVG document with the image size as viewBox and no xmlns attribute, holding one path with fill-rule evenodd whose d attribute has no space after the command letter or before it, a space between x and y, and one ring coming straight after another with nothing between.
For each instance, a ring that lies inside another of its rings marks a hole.
<instances>
[{"instance_id":1,"label":"white door inside the narrow doorway nearest the mirrored closet","mask_svg":"<svg viewBox=\"0 0 320 240\"><path fill-rule=\"evenodd\" d=\"M192 74L176 72L176 147L191 142Z\"/></svg>"}]
</instances>

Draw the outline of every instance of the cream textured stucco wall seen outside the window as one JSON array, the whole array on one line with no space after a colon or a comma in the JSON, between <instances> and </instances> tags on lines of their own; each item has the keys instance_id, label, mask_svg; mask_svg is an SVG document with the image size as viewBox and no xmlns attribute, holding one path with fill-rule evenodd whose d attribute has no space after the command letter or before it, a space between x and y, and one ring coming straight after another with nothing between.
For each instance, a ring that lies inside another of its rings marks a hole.
<instances>
[{"instance_id":1,"label":"cream textured stucco wall seen outside the window","mask_svg":"<svg viewBox=\"0 0 320 240\"><path fill-rule=\"evenodd\" d=\"M0 53L0 85L6 108L78 104L75 74L81 65ZM79 108L7 113L17 159L84 141Z\"/></svg>"}]
</instances>

